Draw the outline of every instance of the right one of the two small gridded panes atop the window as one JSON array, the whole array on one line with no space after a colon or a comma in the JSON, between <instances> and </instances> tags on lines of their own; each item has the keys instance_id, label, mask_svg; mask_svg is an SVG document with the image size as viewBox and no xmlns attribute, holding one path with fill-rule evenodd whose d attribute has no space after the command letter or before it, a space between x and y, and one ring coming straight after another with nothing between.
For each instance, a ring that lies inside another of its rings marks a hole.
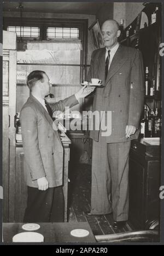
<instances>
[{"instance_id":1,"label":"right one of the two small gridded panes atop the window","mask_svg":"<svg viewBox=\"0 0 164 256\"><path fill-rule=\"evenodd\" d=\"M48 27L47 38L79 38L79 29L75 27Z\"/></svg>"}]
</instances>

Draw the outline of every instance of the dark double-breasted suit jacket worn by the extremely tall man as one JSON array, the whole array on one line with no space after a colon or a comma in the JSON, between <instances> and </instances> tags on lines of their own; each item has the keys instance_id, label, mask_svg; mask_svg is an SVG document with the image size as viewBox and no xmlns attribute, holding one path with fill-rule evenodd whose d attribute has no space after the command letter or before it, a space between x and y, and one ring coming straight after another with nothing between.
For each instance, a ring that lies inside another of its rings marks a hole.
<instances>
[{"instance_id":1,"label":"dark double-breasted suit jacket worn by the extremely tall man","mask_svg":"<svg viewBox=\"0 0 164 256\"><path fill-rule=\"evenodd\" d=\"M144 74L142 55L139 50L120 45L105 80L106 48L93 51L87 80L98 78L104 88L96 88L92 110L110 110L112 133L107 143L126 142L126 125L137 128L128 140L139 135L139 120L144 103ZM99 131L90 131L90 137L98 141Z\"/></svg>"}]
</instances>

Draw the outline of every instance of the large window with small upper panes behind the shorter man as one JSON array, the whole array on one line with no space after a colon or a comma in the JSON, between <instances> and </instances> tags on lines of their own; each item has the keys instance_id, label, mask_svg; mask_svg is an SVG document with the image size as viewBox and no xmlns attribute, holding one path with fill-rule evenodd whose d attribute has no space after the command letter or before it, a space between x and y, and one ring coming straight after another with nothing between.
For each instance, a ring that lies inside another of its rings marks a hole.
<instances>
[{"instance_id":1,"label":"large window with small upper panes behind the shorter man","mask_svg":"<svg viewBox=\"0 0 164 256\"><path fill-rule=\"evenodd\" d=\"M87 19L4 17L3 29L17 33L17 103L20 112L29 96L27 75L44 70L52 81L52 101L81 88L87 74ZM20 40L21 39L21 40ZM22 55L20 55L22 54ZM84 100L73 107L82 110Z\"/></svg>"}]
</instances>

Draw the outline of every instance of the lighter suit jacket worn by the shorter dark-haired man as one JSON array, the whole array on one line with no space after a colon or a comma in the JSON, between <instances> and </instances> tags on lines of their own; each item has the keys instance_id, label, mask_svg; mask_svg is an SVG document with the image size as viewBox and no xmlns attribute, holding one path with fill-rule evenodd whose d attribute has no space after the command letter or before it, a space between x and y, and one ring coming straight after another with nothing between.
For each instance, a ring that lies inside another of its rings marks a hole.
<instances>
[{"instance_id":1,"label":"lighter suit jacket worn by the shorter dark-haired man","mask_svg":"<svg viewBox=\"0 0 164 256\"><path fill-rule=\"evenodd\" d=\"M75 96L51 105L52 111L63 111L65 106L78 104ZM52 119L43 105L32 95L21 109L22 143L24 147L24 172L27 186L38 187L37 179L46 177L49 187L63 182L63 147Z\"/></svg>"}]
</instances>

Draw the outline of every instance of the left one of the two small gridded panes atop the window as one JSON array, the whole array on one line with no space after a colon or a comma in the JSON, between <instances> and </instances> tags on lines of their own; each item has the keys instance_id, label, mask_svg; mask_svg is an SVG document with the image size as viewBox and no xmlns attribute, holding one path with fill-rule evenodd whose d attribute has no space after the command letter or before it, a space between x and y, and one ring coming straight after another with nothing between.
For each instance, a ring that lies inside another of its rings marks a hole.
<instances>
[{"instance_id":1,"label":"left one of the two small gridded panes atop the window","mask_svg":"<svg viewBox=\"0 0 164 256\"><path fill-rule=\"evenodd\" d=\"M16 32L17 37L39 38L39 27L8 26L7 30Z\"/></svg>"}]
</instances>

